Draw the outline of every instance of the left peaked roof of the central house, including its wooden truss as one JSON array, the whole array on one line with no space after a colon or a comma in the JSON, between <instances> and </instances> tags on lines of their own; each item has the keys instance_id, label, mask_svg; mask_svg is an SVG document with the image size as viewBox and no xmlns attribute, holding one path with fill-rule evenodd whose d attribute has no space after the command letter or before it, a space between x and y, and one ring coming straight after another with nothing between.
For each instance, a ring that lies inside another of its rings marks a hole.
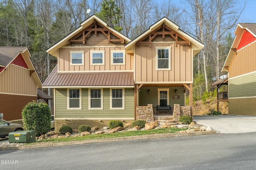
<instances>
[{"instance_id":1,"label":"left peaked roof of the central house, including its wooden truss","mask_svg":"<svg viewBox=\"0 0 256 170\"><path fill-rule=\"evenodd\" d=\"M53 55L54 57L58 57L57 50L61 47L72 43L72 42L80 42L80 43L86 43L86 37L90 33L97 32L103 33L106 37L108 37L108 41L120 41L121 43L128 43L131 40L113 29L112 27L108 26L107 23L100 20L100 18L96 17L95 15L90 16L88 19L83 21L81 23L81 26L72 31L70 34L68 34L66 37L61 39L58 43L47 49L47 53L50 55ZM110 34L114 35L114 38L111 37Z\"/></svg>"}]
</instances>

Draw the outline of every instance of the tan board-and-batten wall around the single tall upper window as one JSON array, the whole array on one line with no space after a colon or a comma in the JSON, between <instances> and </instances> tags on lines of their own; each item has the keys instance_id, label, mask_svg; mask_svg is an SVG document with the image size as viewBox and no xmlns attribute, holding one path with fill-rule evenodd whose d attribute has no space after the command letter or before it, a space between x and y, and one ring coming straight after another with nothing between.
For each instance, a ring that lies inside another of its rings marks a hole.
<instances>
[{"instance_id":1,"label":"tan board-and-batten wall around the single tall upper window","mask_svg":"<svg viewBox=\"0 0 256 170\"><path fill-rule=\"evenodd\" d=\"M135 47L135 82L191 82L191 45L158 42ZM171 47L170 70L156 70L156 47Z\"/></svg>"}]
</instances>

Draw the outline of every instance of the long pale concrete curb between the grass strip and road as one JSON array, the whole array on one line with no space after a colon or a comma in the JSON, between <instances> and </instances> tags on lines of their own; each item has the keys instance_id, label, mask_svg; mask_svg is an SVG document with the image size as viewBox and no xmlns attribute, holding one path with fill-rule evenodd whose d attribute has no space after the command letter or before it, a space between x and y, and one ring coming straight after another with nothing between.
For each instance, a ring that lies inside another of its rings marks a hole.
<instances>
[{"instance_id":1,"label":"long pale concrete curb between the grass strip and road","mask_svg":"<svg viewBox=\"0 0 256 170\"><path fill-rule=\"evenodd\" d=\"M141 139L158 139L158 138L167 138L167 137L214 135L214 134L217 134L217 131L202 131L202 132L197 131L197 132L186 132L186 133L154 134L154 135L107 138L107 139L92 139L92 140L85 140L85 141L44 143L44 144L38 144L38 145L22 145L22 146L18 146L18 147L1 147L0 151L34 149L34 148L44 148L44 147L59 147L59 146L67 146L67 145L82 145L82 144L90 144L90 143L133 141L133 140L141 140Z\"/></svg>"}]
</instances>

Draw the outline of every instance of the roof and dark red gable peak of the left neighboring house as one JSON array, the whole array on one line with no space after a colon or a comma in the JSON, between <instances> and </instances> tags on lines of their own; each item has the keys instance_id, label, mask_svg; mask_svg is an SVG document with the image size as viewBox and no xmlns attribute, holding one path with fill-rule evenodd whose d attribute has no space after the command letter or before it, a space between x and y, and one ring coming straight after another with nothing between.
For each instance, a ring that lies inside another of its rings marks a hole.
<instances>
[{"instance_id":1,"label":"roof and dark red gable peak of the left neighboring house","mask_svg":"<svg viewBox=\"0 0 256 170\"><path fill-rule=\"evenodd\" d=\"M22 56L20 56L22 55ZM30 59L31 54L27 47L0 47L0 74L10 64L15 64L29 69L38 88L42 88L42 82ZM34 72L35 73L34 73Z\"/></svg>"}]
</instances>

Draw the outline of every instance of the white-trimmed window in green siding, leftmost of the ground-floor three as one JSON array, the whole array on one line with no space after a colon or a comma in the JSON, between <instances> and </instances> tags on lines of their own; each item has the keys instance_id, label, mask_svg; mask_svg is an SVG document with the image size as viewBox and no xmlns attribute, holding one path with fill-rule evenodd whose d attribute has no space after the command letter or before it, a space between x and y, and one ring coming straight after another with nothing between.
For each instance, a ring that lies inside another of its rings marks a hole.
<instances>
[{"instance_id":1,"label":"white-trimmed window in green siding, leftmost of the ground-floor three","mask_svg":"<svg viewBox=\"0 0 256 170\"><path fill-rule=\"evenodd\" d=\"M68 109L82 109L81 89L67 89Z\"/></svg>"}]
</instances>

